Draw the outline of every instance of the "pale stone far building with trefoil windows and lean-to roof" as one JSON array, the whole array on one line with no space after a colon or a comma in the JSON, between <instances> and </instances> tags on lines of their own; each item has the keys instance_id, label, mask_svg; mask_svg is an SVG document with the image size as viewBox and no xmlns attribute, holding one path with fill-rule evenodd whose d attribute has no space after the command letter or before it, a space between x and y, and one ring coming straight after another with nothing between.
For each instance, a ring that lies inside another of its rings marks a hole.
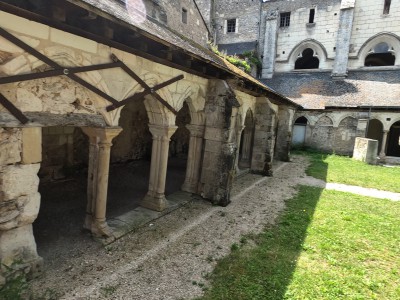
<instances>
[{"instance_id":1,"label":"pale stone far building with trefoil windows and lean-to roof","mask_svg":"<svg viewBox=\"0 0 400 300\"><path fill-rule=\"evenodd\" d=\"M247 1L228 2L210 1L211 23L238 14L239 30L240 23L259 22L247 28L247 36L256 41L262 81L303 106L295 126L302 136L294 136L295 142L351 154L356 136L380 131L374 136L384 141L381 158L400 156L395 142L400 120L398 1L263 0L251 1L250 13ZM215 43L239 54L247 41L240 34L222 33ZM321 119L315 120L316 115Z\"/></svg>"}]
</instances>

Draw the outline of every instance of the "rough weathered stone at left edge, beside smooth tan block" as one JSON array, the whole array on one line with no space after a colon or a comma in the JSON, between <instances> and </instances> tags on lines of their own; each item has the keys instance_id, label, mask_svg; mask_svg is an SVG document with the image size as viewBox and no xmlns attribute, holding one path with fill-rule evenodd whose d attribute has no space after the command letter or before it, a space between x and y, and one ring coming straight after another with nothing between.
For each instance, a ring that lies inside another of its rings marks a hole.
<instances>
[{"instance_id":1,"label":"rough weathered stone at left edge, beside smooth tan block","mask_svg":"<svg viewBox=\"0 0 400 300\"><path fill-rule=\"evenodd\" d=\"M21 130L0 128L0 165L21 161Z\"/></svg>"}]
</instances>

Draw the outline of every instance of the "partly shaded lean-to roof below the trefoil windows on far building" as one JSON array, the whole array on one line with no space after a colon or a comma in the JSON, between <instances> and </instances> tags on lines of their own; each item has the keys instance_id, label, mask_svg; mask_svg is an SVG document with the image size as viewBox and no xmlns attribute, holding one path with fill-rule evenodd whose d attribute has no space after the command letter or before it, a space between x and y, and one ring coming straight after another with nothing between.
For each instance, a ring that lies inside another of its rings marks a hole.
<instances>
[{"instance_id":1,"label":"partly shaded lean-to roof below the trefoil windows on far building","mask_svg":"<svg viewBox=\"0 0 400 300\"><path fill-rule=\"evenodd\" d=\"M280 73L262 82L306 109L400 107L400 69L349 71L343 81L332 80L330 72Z\"/></svg>"}]
</instances>

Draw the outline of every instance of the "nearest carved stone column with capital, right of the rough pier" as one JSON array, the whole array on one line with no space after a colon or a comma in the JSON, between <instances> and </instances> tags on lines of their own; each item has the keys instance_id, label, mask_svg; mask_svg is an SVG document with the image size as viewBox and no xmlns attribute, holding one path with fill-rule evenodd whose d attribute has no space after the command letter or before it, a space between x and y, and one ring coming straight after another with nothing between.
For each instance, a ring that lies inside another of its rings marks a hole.
<instances>
[{"instance_id":1,"label":"nearest carved stone column with capital, right of the rough pier","mask_svg":"<svg viewBox=\"0 0 400 300\"><path fill-rule=\"evenodd\" d=\"M97 237L112 237L106 222L108 173L112 139L122 128L82 127L89 137L89 171L87 187L87 208L84 228Z\"/></svg>"}]
</instances>

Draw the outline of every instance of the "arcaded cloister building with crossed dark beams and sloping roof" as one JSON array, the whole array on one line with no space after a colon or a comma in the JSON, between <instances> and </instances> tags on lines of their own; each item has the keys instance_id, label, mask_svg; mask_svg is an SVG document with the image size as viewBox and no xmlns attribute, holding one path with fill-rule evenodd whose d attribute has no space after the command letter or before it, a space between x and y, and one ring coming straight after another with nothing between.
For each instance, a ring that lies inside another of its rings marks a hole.
<instances>
[{"instance_id":1,"label":"arcaded cloister building with crossed dark beams and sloping roof","mask_svg":"<svg viewBox=\"0 0 400 300\"><path fill-rule=\"evenodd\" d=\"M155 211L172 155L186 159L182 190L219 205L239 171L272 175L274 151L288 159L299 106L205 49L194 2L125 2L0 2L2 284L40 271L38 187L74 165L87 165L83 227L110 241L110 159L150 160L140 205Z\"/></svg>"}]
</instances>

